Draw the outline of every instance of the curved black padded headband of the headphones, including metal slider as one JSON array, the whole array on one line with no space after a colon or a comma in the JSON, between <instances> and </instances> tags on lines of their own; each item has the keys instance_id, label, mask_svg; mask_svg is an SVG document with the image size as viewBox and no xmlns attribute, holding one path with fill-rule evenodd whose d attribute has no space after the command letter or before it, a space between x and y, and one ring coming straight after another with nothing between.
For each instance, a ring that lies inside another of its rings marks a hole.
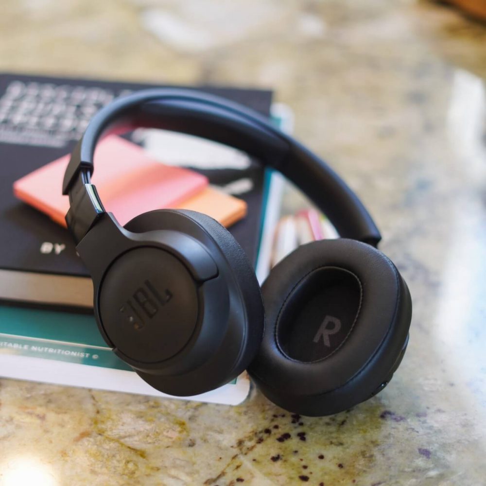
<instances>
[{"instance_id":1,"label":"curved black padded headband of the headphones, including metal slider","mask_svg":"<svg viewBox=\"0 0 486 486\"><path fill-rule=\"evenodd\" d=\"M147 89L120 97L90 121L76 145L63 181L69 194L68 227L80 241L104 213L94 185L93 155L106 133L151 127L187 133L229 145L272 167L297 187L329 217L345 238L376 246L380 232L347 184L324 161L240 104L185 89Z\"/></svg>"}]
</instances>

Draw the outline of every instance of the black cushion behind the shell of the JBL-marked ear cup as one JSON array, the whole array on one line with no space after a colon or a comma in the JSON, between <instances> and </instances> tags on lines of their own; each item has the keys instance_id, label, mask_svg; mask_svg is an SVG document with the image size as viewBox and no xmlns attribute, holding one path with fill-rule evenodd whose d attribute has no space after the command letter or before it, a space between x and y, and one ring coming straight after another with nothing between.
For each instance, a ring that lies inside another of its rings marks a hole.
<instances>
[{"instance_id":1,"label":"black cushion behind the shell of the JBL-marked ear cup","mask_svg":"<svg viewBox=\"0 0 486 486\"><path fill-rule=\"evenodd\" d=\"M156 389L178 396L204 393L236 378L254 359L264 324L260 286L242 247L217 221L195 211L150 211L134 218L125 228L135 233L180 231L203 243L218 267L217 279L224 279L229 296L228 311L221 303L221 312L228 315L227 322L221 327L220 339L213 341L213 352L206 363L195 368L189 366L191 369L183 373L167 372L163 364L159 370L150 373L136 370L137 373ZM218 299L218 295L214 298ZM185 359L190 360L191 356Z\"/></svg>"}]
</instances>

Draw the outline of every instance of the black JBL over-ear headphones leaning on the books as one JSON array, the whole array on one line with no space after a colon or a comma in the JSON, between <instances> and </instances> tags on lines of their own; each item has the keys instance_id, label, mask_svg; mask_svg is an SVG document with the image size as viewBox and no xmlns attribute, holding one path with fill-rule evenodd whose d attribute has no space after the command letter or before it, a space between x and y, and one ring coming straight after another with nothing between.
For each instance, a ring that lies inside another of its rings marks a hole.
<instances>
[{"instance_id":1,"label":"black JBL over-ear headphones leaning on the books","mask_svg":"<svg viewBox=\"0 0 486 486\"><path fill-rule=\"evenodd\" d=\"M342 239L297 248L260 286L242 248L204 214L164 209L121 227L90 183L102 135L156 127L215 140L287 176ZM380 233L330 167L239 104L191 90L118 98L89 123L63 183L68 226L94 283L104 340L139 376L191 396L245 368L292 412L330 415L390 381L408 341L412 304Z\"/></svg>"}]
</instances>

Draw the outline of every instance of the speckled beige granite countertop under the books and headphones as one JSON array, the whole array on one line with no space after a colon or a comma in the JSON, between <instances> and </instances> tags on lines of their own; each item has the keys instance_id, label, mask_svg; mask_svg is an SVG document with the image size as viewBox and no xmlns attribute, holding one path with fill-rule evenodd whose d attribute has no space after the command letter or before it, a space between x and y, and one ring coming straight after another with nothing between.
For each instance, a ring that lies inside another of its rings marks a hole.
<instances>
[{"instance_id":1,"label":"speckled beige granite countertop under the books and headphones","mask_svg":"<svg viewBox=\"0 0 486 486\"><path fill-rule=\"evenodd\" d=\"M334 417L258 392L230 408L2 380L0 484L486 483L484 26L384 0L1 11L0 69L274 87L369 206L414 318L393 382ZM285 208L301 204L289 191Z\"/></svg>"}]
</instances>

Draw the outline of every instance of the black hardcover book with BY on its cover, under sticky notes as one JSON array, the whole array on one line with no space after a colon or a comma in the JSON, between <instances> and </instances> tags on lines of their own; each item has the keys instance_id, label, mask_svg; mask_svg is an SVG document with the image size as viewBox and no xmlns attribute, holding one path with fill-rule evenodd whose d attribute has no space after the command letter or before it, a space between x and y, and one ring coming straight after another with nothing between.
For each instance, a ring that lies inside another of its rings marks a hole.
<instances>
[{"instance_id":1,"label":"black hardcover book with BY on its cover, under sticky notes","mask_svg":"<svg viewBox=\"0 0 486 486\"><path fill-rule=\"evenodd\" d=\"M48 216L14 197L20 177L69 153L89 119L113 98L154 87L140 83L0 75L0 300L61 307L92 306L87 270L76 255L71 236ZM197 87L224 96L265 116L271 91ZM264 170L256 163L244 169L197 169L211 184L251 181L238 194L247 216L229 229L256 261L263 208ZM62 251L59 251L62 248Z\"/></svg>"}]
</instances>

